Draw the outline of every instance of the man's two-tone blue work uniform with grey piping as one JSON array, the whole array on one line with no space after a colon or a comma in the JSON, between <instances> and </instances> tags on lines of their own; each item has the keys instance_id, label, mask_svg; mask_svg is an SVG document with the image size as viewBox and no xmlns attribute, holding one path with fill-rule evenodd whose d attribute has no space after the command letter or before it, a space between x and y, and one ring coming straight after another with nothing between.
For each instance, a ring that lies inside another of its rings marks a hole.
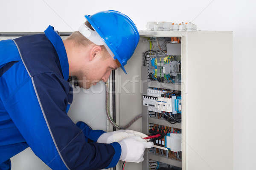
<instances>
[{"instance_id":1,"label":"man's two-tone blue work uniform with grey piping","mask_svg":"<svg viewBox=\"0 0 256 170\"><path fill-rule=\"evenodd\" d=\"M53 170L114 167L120 144L97 143L104 131L67 116L66 50L52 26L44 33L0 41L0 170L27 147Z\"/></svg>"}]
</instances>

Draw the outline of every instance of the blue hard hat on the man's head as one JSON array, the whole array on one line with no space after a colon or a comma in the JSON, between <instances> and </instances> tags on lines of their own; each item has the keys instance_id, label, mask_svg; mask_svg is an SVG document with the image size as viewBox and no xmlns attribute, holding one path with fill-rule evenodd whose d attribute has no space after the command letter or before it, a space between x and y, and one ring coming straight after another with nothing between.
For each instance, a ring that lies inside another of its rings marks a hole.
<instances>
[{"instance_id":1,"label":"blue hard hat on the man's head","mask_svg":"<svg viewBox=\"0 0 256 170\"><path fill-rule=\"evenodd\" d=\"M118 59L122 70L124 65L134 54L140 40L140 34L132 20L119 11L101 11L93 15L84 16L95 31L102 37L108 48Z\"/></svg>"}]
</instances>

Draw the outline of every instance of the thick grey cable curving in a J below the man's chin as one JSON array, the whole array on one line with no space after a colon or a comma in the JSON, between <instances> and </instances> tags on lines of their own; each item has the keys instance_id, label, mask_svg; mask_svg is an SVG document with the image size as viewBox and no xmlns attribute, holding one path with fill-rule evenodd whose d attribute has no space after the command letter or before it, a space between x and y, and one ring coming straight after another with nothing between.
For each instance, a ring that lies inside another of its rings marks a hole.
<instances>
[{"instance_id":1,"label":"thick grey cable curving in a J below the man's chin","mask_svg":"<svg viewBox=\"0 0 256 170\"><path fill-rule=\"evenodd\" d=\"M140 119L142 117L142 114L139 114L137 116L134 117L134 119L132 119L127 125L125 126L119 126L117 125L113 119L112 116L110 115L109 112L109 107L108 107L108 101L109 101L109 96L108 96L108 83L105 84L105 92L106 92L106 114L108 117L109 122L111 123L111 125L113 125L113 127L116 127L116 129L127 129L128 127L130 127L135 121L137 121L138 119Z\"/></svg>"}]
</instances>

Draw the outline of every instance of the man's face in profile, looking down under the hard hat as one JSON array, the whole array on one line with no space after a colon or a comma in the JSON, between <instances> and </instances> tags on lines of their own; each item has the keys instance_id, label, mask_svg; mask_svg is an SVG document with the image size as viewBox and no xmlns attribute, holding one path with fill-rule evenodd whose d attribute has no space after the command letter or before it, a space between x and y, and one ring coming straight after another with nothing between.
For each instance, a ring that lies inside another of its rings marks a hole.
<instances>
[{"instance_id":1,"label":"man's face in profile, looking down under the hard hat","mask_svg":"<svg viewBox=\"0 0 256 170\"><path fill-rule=\"evenodd\" d=\"M79 86L88 89L97 82L107 82L112 70L120 67L117 60L114 60L106 51L92 49L87 64L81 67L77 79Z\"/></svg>"}]
</instances>

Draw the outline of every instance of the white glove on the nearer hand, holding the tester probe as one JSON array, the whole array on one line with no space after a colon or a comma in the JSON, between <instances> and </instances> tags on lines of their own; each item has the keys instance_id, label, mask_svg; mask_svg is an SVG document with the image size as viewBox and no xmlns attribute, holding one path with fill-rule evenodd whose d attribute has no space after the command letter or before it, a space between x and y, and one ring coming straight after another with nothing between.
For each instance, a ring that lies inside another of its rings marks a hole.
<instances>
[{"instance_id":1,"label":"white glove on the nearer hand, holding the tester probe","mask_svg":"<svg viewBox=\"0 0 256 170\"><path fill-rule=\"evenodd\" d=\"M139 136L125 138L119 142L122 148L120 156L121 161L139 163L144 160L143 155L145 148L153 147L153 142L147 142Z\"/></svg>"}]
</instances>

